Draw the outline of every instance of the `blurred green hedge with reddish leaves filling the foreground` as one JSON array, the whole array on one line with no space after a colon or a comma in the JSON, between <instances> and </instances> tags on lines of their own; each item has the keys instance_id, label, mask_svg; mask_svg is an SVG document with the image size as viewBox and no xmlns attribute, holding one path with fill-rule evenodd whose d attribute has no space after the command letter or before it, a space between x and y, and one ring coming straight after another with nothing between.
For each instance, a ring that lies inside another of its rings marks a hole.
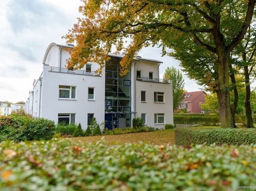
<instances>
[{"instance_id":1,"label":"blurred green hedge with reddish leaves filling the foreground","mask_svg":"<svg viewBox=\"0 0 256 191\"><path fill-rule=\"evenodd\" d=\"M0 188L25 191L226 191L254 185L255 146L190 148L2 142Z\"/></svg>"}]
</instances>

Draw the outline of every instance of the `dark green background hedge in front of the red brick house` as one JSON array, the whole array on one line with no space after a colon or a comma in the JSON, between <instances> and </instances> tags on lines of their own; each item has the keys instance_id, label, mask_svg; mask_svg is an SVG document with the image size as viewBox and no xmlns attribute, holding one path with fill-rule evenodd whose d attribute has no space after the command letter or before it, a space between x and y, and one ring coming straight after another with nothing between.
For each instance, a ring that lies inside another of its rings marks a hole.
<instances>
[{"instance_id":1,"label":"dark green background hedge in front of the red brick house","mask_svg":"<svg viewBox=\"0 0 256 191\"><path fill-rule=\"evenodd\" d=\"M174 124L202 124L216 125L220 122L219 116L173 116Z\"/></svg>"}]
</instances>

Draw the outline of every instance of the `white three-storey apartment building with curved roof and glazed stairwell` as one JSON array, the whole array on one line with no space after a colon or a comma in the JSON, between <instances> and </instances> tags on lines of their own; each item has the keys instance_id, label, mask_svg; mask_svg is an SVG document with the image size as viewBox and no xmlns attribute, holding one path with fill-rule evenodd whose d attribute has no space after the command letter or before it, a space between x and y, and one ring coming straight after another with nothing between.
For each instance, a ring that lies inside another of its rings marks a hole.
<instances>
[{"instance_id":1,"label":"white three-storey apartment building with curved roof and glazed stairwell","mask_svg":"<svg viewBox=\"0 0 256 191\"><path fill-rule=\"evenodd\" d=\"M66 69L67 49L72 45L51 43L43 58L43 72L34 80L26 112L57 122L81 123L86 129L93 117L108 129L132 126L132 118L164 128L173 124L171 81L159 79L161 61L134 58L128 74L120 76L124 55L109 53L102 75L94 73L97 63L83 69Z\"/></svg>"}]
</instances>

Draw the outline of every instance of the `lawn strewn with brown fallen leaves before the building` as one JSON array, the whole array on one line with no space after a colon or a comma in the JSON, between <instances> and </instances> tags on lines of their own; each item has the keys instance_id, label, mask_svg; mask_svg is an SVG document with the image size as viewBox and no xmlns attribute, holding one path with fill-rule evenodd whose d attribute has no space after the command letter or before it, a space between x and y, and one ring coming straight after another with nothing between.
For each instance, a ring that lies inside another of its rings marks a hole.
<instances>
[{"instance_id":1,"label":"lawn strewn with brown fallen leaves before the building","mask_svg":"<svg viewBox=\"0 0 256 191\"><path fill-rule=\"evenodd\" d=\"M174 131L173 130L157 130L153 132L142 132L142 133L129 133L122 135L104 135L104 136L94 136L94 137L79 137L79 138L70 138L73 142L96 142L101 138L107 142L111 143L150 143L153 145L174 145Z\"/></svg>"}]
</instances>

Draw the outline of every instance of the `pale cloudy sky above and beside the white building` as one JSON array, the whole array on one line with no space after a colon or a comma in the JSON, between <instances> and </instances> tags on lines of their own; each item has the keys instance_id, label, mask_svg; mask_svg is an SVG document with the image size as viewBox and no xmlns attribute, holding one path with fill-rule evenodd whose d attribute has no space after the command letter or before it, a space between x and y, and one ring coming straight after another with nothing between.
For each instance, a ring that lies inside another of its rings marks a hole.
<instances>
[{"instance_id":1,"label":"pale cloudy sky above and beside the white building","mask_svg":"<svg viewBox=\"0 0 256 191\"><path fill-rule=\"evenodd\" d=\"M80 0L0 0L0 101L26 101L47 47L66 43L61 37L82 16L80 5ZM143 48L139 55L164 62L160 78L168 66L181 69L179 61L161 56L161 48ZM195 81L183 77L186 91L199 91Z\"/></svg>"}]
</instances>

